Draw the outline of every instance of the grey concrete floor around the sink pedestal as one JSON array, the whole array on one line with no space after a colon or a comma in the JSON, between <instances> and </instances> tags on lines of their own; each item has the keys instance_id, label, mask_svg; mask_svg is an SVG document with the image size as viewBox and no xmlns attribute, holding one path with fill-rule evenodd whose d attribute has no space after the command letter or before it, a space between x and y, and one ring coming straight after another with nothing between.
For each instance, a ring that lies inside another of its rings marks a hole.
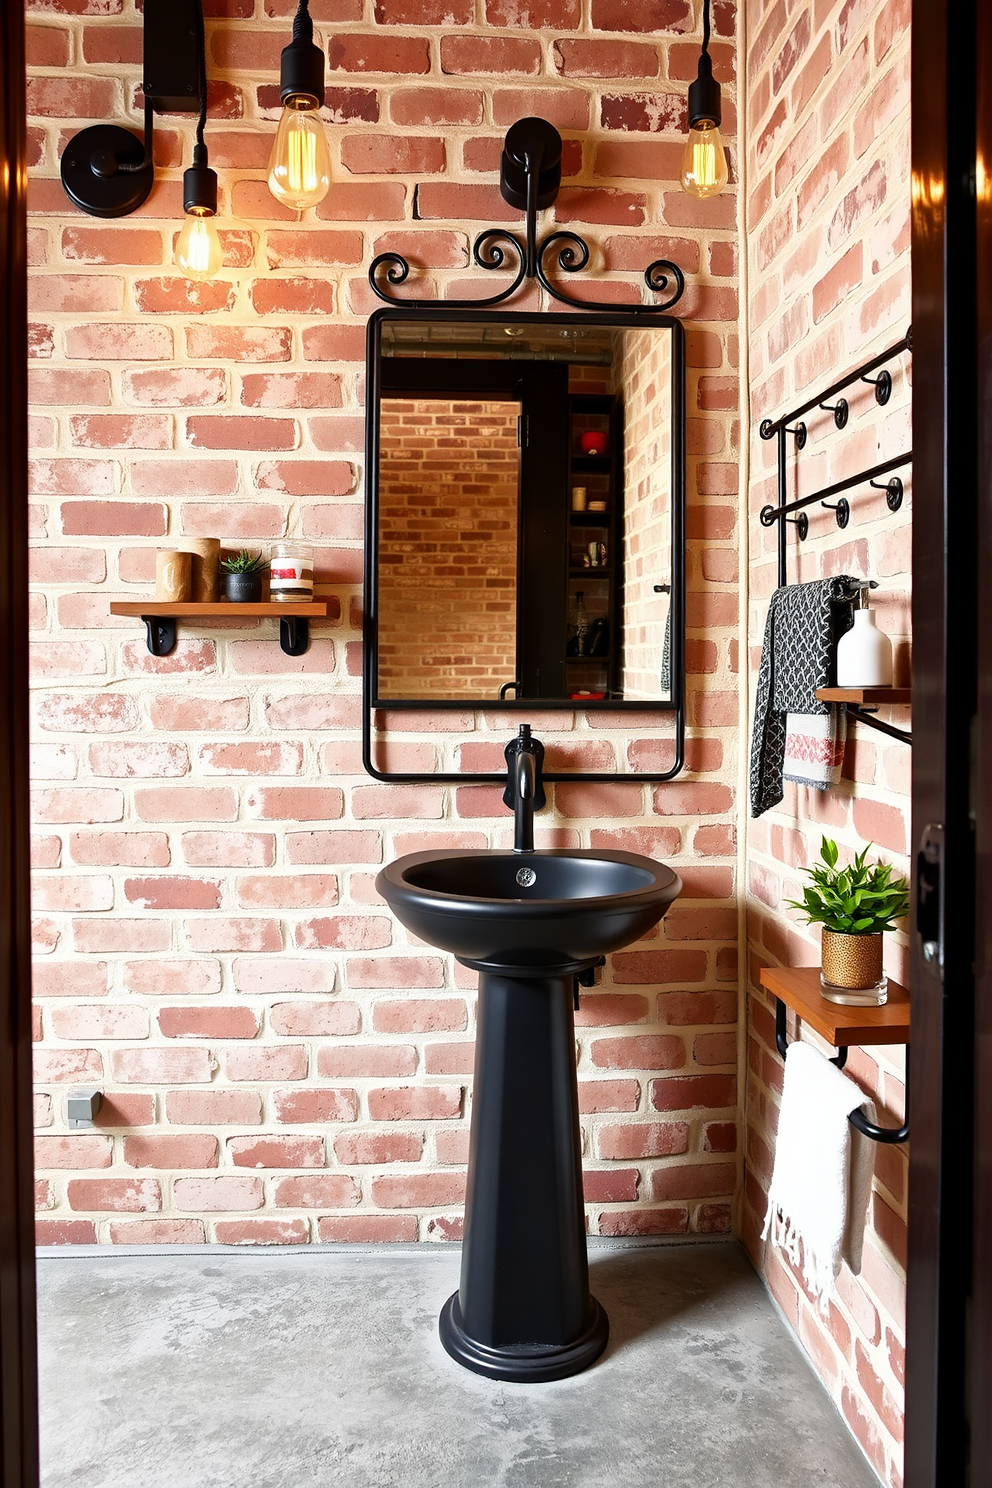
<instances>
[{"instance_id":1,"label":"grey concrete floor around the sink pedestal","mask_svg":"<svg viewBox=\"0 0 992 1488\"><path fill-rule=\"evenodd\" d=\"M736 1244L590 1262L607 1353L510 1385L437 1341L457 1247L49 1251L43 1488L877 1488Z\"/></svg>"}]
</instances>

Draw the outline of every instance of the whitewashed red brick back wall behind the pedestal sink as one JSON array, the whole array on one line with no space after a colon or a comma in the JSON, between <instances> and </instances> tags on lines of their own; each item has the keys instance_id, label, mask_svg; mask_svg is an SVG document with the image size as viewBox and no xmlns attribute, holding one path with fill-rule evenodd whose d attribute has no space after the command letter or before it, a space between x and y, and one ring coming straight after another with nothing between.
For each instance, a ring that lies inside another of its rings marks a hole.
<instances>
[{"instance_id":1,"label":"whitewashed red brick back wall behind the pedestal sink","mask_svg":"<svg viewBox=\"0 0 992 1488\"><path fill-rule=\"evenodd\" d=\"M446 1238L458 1232L473 978L391 921L384 859L509 839L498 792L360 766L364 281L492 293L480 228L506 126L565 138L558 225L593 243L586 293L686 269L689 768L671 786L564 784L543 845L631 847L686 890L583 998L589 1223L720 1231L736 1156L738 280L733 193L678 189L699 6L663 0L314 0L330 25L335 185L300 220L265 186L292 0L210 0L208 141L225 269L171 266L192 125L156 128L147 204L74 211L58 152L129 121L132 0L30 4L39 1205L43 1241ZM483 18L485 13L485 18ZM730 4L714 58L733 135ZM570 289L582 289L570 280ZM540 304L532 292L522 307ZM171 658L109 601L149 594L184 534L317 549L327 623L283 656L272 622L186 625ZM405 716L394 768L498 768L507 714ZM663 719L535 713L549 765L651 769ZM100 1083L92 1134L62 1094ZM525 1222L525 1217L522 1217Z\"/></svg>"}]
</instances>

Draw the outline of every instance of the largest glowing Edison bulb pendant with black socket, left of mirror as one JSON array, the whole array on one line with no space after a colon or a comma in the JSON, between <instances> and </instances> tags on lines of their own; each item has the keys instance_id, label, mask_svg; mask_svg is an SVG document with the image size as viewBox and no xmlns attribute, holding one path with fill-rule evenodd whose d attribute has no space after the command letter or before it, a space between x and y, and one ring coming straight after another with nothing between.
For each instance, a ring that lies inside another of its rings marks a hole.
<instances>
[{"instance_id":1,"label":"largest glowing Edison bulb pendant with black socket, left of mirror","mask_svg":"<svg viewBox=\"0 0 992 1488\"><path fill-rule=\"evenodd\" d=\"M330 150L320 118L324 54L314 43L309 0L299 0L293 40L280 60L283 115L269 156L269 190L284 207L302 211L323 201L330 186Z\"/></svg>"}]
</instances>

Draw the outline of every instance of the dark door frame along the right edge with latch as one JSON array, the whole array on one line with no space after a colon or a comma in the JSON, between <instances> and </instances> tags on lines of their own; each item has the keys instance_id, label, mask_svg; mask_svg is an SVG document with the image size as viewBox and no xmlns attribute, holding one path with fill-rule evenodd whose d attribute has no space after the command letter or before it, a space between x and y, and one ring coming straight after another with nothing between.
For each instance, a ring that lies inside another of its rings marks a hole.
<instances>
[{"instance_id":1,"label":"dark door frame along the right edge with latch","mask_svg":"<svg viewBox=\"0 0 992 1488\"><path fill-rule=\"evenodd\" d=\"M976 213L976 162L985 158L992 165L991 37L988 0L913 0L918 921L912 963L906 1488L988 1488L992 1482L988 199L982 240Z\"/></svg>"}]
</instances>

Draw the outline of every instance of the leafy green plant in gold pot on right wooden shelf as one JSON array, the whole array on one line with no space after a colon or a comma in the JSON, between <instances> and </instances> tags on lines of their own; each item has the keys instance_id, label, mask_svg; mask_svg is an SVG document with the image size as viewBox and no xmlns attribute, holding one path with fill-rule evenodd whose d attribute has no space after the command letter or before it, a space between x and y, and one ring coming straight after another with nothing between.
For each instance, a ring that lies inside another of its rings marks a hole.
<instances>
[{"instance_id":1,"label":"leafy green plant in gold pot on right wooden shelf","mask_svg":"<svg viewBox=\"0 0 992 1488\"><path fill-rule=\"evenodd\" d=\"M802 899L806 924L821 924L819 984L831 1003L879 1006L888 992L882 975L882 934L909 914L909 882L888 863L866 862L872 842L846 868L837 868L837 844L822 838L822 866L805 869L811 882Z\"/></svg>"}]
</instances>

